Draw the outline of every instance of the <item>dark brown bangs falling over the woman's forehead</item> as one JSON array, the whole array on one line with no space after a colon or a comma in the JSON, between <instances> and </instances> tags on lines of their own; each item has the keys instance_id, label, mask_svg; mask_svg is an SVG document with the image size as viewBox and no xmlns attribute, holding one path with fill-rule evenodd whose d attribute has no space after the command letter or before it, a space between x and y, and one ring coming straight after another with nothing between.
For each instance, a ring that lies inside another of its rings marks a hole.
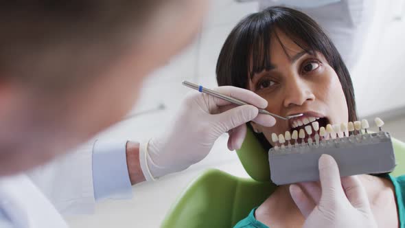
<instances>
[{"instance_id":1,"label":"dark brown bangs falling over the woman's forehead","mask_svg":"<svg viewBox=\"0 0 405 228\"><path fill-rule=\"evenodd\" d=\"M309 54L320 52L326 58L330 56L325 52L327 47L323 45L324 42L320 42L323 41L323 37L319 35L319 31L313 31L316 30L316 27L308 23L305 24L292 15L289 20L285 20L284 17L277 15L277 12L271 14L265 11L261 14L253 14L245 20L248 23L244 24L244 34L240 37L236 47L246 47L246 49L244 54L237 55L235 58L244 58L237 62L244 62L242 64L245 66L243 71L248 78L251 78L255 73L273 69L270 57L272 42L278 42L286 56L290 58L286 45L279 38L279 32L286 34L292 42Z\"/></svg>"}]
</instances>

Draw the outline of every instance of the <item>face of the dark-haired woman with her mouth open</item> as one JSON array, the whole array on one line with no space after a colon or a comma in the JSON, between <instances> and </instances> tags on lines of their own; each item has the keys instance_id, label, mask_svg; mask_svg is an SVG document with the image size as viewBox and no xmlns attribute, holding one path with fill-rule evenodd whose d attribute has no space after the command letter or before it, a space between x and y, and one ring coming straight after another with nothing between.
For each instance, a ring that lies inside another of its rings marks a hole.
<instances>
[{"instance_id":1,"label":"face of the dark-haired woman with her mouth open","mask_svg":"<svg viewBox=\"0 0 405 228\"><path fill-rule=\"evenodd\" d=\"M270 113L281 116L303 113L303 116L277 119L275 126L270 128L252 123L253 128L273 144L272 133L284 135L286 130L292 133L292 130L311 125L303 123L315 118L319 118L316 119L319 127L347 122L347 102L342 85L325 57L319 52L305 52L283 32L277 31L277 35L285 49L272 37L270 59L273 69L255 73L248 80L248 89L268 101L266 110Z\"/></svg>"}]
</instances>

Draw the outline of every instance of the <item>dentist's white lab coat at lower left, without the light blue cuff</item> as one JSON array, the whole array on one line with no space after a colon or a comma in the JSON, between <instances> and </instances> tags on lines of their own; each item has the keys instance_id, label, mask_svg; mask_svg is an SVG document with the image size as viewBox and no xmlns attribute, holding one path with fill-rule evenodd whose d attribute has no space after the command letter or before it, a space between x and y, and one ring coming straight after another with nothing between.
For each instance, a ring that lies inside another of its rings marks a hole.
<instances>
[{"instance_id":1,"label":"dentist's white lab coat at lower left, without the light blue cuff","mask_svg":"<svg viewBox=\"0 0 405 228\"><path fill-rule=\"evenodd\" d=\"M0 207L16 227L67 227L61 214L93 212L93 144L27 175L0 179Z\"/></svg>"}]
</instances>

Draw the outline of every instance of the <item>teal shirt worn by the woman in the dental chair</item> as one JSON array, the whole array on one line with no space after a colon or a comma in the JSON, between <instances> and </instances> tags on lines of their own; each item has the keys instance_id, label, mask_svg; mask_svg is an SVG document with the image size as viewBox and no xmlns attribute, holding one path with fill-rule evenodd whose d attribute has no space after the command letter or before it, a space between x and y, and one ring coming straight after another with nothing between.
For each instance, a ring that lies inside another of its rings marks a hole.
<instances>
[{"instance_id":1,"label":"teal shirt worn by the woman in the dental chair","mask_svg":"<svg viewBox=\"0 0 405 228\"><path fill-rule=\"evenodd\" d=\"M395 198L397 199L398 218L400 219L400 228L405 228L405 175L398 177L386 175L386 179L389 179L394 185ZM251 213L249 213L246 218L240 220L239 223L237 223L233 228L269 228L256 220L256 208L257 207L253 208Z\"/></svg>"}]
</instances>

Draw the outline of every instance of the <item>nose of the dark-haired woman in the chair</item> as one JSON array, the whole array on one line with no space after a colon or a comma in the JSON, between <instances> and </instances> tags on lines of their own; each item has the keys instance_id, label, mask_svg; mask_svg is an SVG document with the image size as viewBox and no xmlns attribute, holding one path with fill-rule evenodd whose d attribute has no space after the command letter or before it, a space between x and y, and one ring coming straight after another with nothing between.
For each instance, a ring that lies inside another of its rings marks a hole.
<instances>
[{"instance_id":1,"label":"nose of the dark-haired woman in the chair","mask_svg":"<svg viewBox=\"0 0 405 228\"><path fill-rule=\"evenodd\" d=\"M302 78L294 78L286 83L284 106L302 106L305 102L315 100L315 95L309 82Z\"/></svg>"}]
</instances>

